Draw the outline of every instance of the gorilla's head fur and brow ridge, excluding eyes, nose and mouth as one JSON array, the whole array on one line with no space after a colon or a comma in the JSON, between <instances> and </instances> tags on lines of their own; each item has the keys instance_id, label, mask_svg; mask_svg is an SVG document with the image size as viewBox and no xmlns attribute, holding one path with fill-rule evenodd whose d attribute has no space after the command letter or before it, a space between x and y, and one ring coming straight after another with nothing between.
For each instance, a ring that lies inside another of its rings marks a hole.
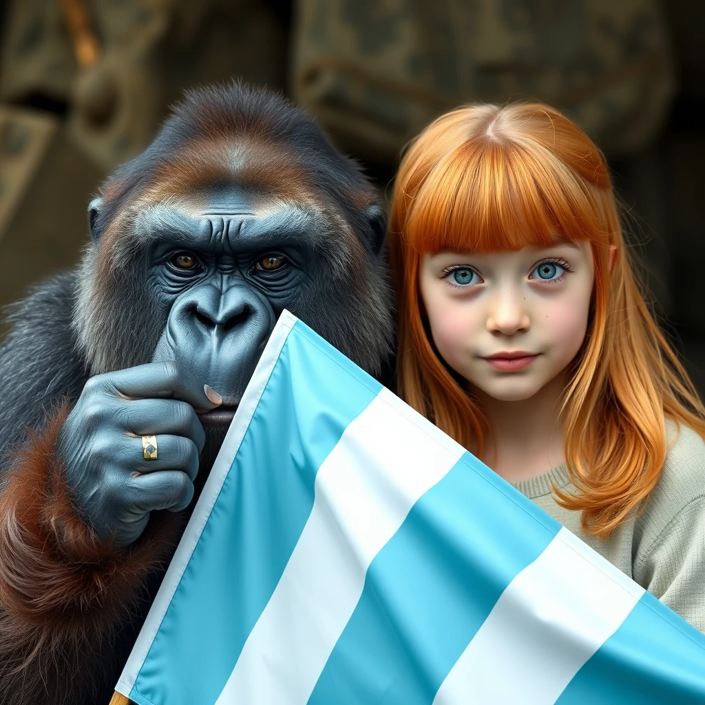
<instances>
[{"instance_id":1,"label":"gorilla's head fur and brow ridge, excluding eyes, nose and mouth","mask_svg":"<svg viewBox=\"0 0 705 705\"><path fill-rule=\"evenodd\" d=\"M238 189L254 197L238 200ZM216 197L223 192L226 202ZM173 250L209 247L223 252L202 258L212 272L250 259L226 248L256 247L264 256L293 242L282 254L307 256L294 262L305 286L291 289L290 310L372 374L391 353L393 297L379 250L379 194L283 97L237 83L189 92L152 145L121 166L100 196L75 313L93 373L152 359L168 319L154 291L160 272L168 273L161 265Z\"/></svg>"}]
</instances>

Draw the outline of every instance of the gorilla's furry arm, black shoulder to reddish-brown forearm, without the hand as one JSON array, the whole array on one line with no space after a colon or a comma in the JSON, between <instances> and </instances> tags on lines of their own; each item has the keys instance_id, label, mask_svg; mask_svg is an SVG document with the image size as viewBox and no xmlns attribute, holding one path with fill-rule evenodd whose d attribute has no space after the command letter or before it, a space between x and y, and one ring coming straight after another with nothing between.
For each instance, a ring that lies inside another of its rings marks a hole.
<instances>
[{"instance_id":1,"label":"gorilla's furry arm, black shoulder to reddish-brown forearm, without the hand","mask_svg":"<svg viewBox=\"0 0 705 705\"><path fill-rule=\"evenodd\" d=\"M63 420L87 380L71 336L72 288L71 275L37 288L15 307L0 345L4 705L80 702L87 684L76 673L110 666L114 628L178 534L177 515L166 515L115 552L75 510L56 460Z\"/></svg>"}]
</instances>

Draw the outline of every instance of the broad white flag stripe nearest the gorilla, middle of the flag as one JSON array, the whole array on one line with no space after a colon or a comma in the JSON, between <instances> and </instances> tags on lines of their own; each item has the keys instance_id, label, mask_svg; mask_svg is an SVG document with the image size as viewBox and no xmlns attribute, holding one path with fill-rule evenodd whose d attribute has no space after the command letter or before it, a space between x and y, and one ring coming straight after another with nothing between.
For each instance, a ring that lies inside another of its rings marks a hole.
<instances>
[{"instance_id":1,"label":"broad white flag stripe nearest the gorilla, middle of the flag","mask_svg":"<svg viewBox=\"0 0 705 705\"><path fill-rule=\"evenodd\" d=\"M464 452L438 439L386 389L350 423L319 468L309 519L216 705L306 703L370 562Z\"/></svg>"}]
</instances>

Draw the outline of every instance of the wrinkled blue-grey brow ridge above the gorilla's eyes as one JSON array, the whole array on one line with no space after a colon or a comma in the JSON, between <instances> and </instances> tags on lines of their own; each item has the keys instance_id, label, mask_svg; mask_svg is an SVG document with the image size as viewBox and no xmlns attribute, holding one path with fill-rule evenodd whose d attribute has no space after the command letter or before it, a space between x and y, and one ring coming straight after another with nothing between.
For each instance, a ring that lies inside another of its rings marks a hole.
<instances>
[{"instance_id":1,"label":"wrinkled blue-grey brow ridge above the gorilla's eyes","mask_svg":"<svg viewBox=\"0 0 705 705\"><path fill-rule=\"evenodd\" d=\"M243 204L239 204L243 207ZM141 243L168 242L203 252L252 252L274 245L316 247L319 214L299 204L278 202L251 211L215 202L207 210L193 203L167 203L140 212L135 235Z\"/></svg>"}]
</instances>

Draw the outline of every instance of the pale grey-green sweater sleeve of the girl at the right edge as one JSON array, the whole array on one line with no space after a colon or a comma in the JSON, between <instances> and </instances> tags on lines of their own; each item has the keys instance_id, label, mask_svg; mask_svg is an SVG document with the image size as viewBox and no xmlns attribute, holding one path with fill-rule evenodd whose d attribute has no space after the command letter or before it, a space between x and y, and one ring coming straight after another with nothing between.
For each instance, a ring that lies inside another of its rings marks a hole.
<instances>
[{"instance_id":1,"label":"pale grey-green sweater sleeve of the girl at the right edge","mask_svg":"<svg viewBox=\"0 0 705 705\"><path fill-rule=\"evenodd\" d=\"M639 550L634 578L705 634L705 494L692 498Z\"/></svg>"}]
</instances>

